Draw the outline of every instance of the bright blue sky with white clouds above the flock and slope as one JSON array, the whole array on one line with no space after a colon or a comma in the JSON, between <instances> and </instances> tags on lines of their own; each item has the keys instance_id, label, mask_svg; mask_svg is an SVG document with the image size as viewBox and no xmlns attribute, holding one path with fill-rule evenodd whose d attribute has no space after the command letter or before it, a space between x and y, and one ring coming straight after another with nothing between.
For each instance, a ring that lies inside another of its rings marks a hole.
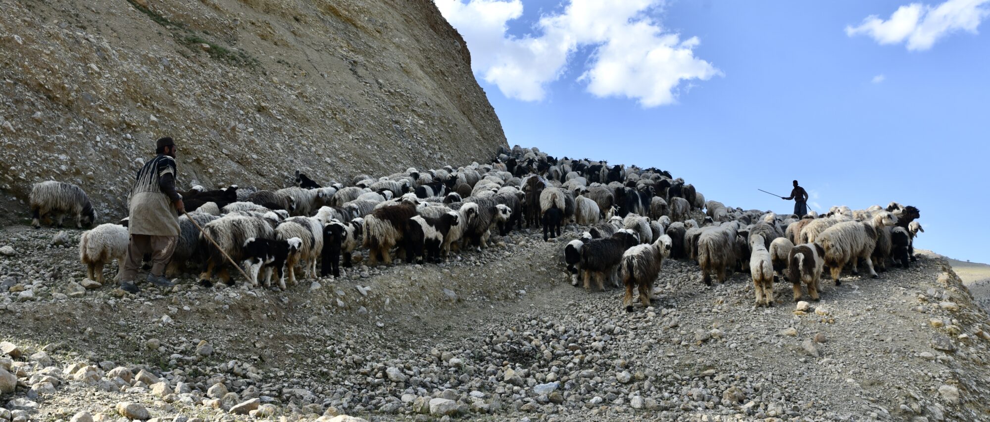
<instances>
[{"instance_id":1,"label":"bright blue sky with white clouds above the flock and slope","mask_svg":"<svg viewBox=\"0 0 990 422\"><path fill-rule=\"evenodd\" d=\"M756 188L786 195L794 178L819 210L915 205L916 247L990 262L990 227L966 214L990 208L990 1L617 0L584 17L598 2L436 1L510 145L669 169L744 209L789 213ZM560 40L562 55L545 46ZM687 57L623 55L654 48Z\"/></svg>"}]
</instances>

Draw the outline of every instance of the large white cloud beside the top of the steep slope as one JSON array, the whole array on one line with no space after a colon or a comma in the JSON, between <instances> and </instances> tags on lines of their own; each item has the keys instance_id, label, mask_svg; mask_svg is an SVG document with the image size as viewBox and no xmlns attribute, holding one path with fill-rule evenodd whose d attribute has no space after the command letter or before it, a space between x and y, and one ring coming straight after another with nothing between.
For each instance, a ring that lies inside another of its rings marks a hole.
<instances>
[{"instance_id":1,"label":"large white cloud beside the top of the steep slope","mask_svg":"<svg viewBox=\"0 0 990 422\"><path fill-rule=\"evenodd\" d=\"M577 78L598 97L627 97L644 107L673 103L678 86L722 72L694 55L697 38L666 33L647 11L662 0L570 0L558 14L541 17L535 34L508 35L523 13L521 0L435 0L463 36L474 71L508 97L539 101L574 53L590 48ZM539 35L536 34L539 32Z\"/></svg>"}]
</instances>

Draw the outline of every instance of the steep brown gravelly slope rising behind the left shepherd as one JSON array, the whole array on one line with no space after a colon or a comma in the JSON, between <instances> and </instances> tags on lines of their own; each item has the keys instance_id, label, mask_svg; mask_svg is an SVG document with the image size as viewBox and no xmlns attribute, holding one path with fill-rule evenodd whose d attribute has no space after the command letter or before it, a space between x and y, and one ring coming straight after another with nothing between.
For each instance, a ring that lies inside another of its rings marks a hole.
<instances>
[{"instance_id":1,"label":"steep brown gravelly slope rising behind the left shepherd","mask_svg":"<svg viewBox=\"0 0 990 422\"><path fill-rule=\"evenodd\" d=\"M153 141L180 183L284 187L506 145L430 0L0 0L0 188L78 183L121 211ZM14 202L11 203L10 200ZM8 213L5 213L8 214Z\"/></svg>"}]
</instances>

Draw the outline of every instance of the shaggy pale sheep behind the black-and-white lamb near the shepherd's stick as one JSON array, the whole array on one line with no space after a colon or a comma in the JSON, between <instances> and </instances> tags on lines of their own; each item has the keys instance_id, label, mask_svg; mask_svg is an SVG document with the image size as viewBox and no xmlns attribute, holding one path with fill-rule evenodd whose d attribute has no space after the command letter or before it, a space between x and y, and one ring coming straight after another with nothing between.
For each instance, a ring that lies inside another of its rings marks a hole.
<instances>
[{"instance_id":1,"label":"shaggy pale sheep behind the black-and-white lamb near the shepherd's stick","mask_svg":"<svg viewBox=\"0 0 990 422\"><path fill-rule=\"evenodd\" d=\"M227 260L221 251L235 262L245 260L244 245L247 239L275 239L275 225L280 218L274 213L266 213L266 217L254 217L242 214L228 214L211 221L203 226L203 234L199 237L198 250L206 256L206 267L200 274L200 284L212 286L211 277L219 275L221 280L233 284L227 272ZM212 238L217 245L206 240ZM218 249L217 246L220 248Z\"/></svg>"}]
</instances>

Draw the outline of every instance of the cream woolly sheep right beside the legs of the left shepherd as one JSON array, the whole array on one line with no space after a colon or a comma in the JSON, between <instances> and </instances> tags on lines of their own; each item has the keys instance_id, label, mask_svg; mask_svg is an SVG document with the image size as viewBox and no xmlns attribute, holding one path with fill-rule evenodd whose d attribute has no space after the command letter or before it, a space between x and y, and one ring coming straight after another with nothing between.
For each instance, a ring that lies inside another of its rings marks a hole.
<instances>
[{"instance_id":1,"label":"cream woolly sheep right beside the legs of the left shepherd","mask_svg":"<svg viewBox=\"0 0 990 422\"><path fill-rule=\"evenodd\" d=\"M101 224L79 238L79 261L86 265L86 278L103 283L103 265L117 260L117 276L127 260L131 235L128 228L114 223Z\"/></svg>"}]
</instances>

